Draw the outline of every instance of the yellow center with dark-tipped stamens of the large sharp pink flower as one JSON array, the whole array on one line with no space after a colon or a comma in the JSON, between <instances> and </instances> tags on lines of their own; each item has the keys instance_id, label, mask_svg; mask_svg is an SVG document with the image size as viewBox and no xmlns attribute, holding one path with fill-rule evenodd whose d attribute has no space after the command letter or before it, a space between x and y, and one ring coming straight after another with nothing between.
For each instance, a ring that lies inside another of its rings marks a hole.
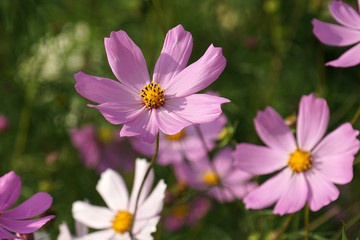
<instances>
[{"instance_id":1,"label":"yellow center with dark-tipped stamens of the large sharp pink flower","mask_svg":"<svg viewBox=\"0 0 360 240\"><path fill-rule=\"evenodd\" d=\"M145 85L140 91L140 97L147 108L158 108L164 104L165 89L161 89L160 84L151 82L148 85Z\"/></svg>"}]
</instances>

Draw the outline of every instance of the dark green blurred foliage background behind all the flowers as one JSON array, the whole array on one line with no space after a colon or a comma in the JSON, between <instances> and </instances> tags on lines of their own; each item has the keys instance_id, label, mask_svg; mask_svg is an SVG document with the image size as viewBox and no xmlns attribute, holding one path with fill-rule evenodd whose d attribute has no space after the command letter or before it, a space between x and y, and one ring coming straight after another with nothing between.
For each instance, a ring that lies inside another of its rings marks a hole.
<instances>
[{"instance_id":1,"label":"dark green blurred foliage background behind all the flowers","mask_svg":"<svg viewBox=\"0 0 360 240\"><path fill-rule=\"evenodd\" d=\"M356 7L357 1L346 1ZM0 135L0 173L14 170L22 178L21 200L38 191L54 197L47 224L54 238L66 220L72 227L71 204L84 198L102 204L95 191L98 175L85 169L69 138L69 129L86 123L110 126L74 89L74 73L115 79L103 39L125 30L142 49L152 74L166 32L182 24L192 33L196 61L213 43L223 48L227 65L209 89L232 102L223 106L231 126L231 143L261 143L253 127L258 110L271 105L282 116L297 113L303 94L325 97L332 113L330 130L350 121L360 105L360 68L325 67L344 48L322 45L312 34L311 20L332 22L325 0L1 0L0 114L10 120ZM360 128L359 121L354 125ZM50 155L49 155L50 154ZM53 155L51 155L53 154ZM55 156L54 163L49 156ZM48 159L48 161L46 161ZM158 178L171 178L158 168ZM346 221L358 217L359 167L339 200ZM131 183L132 177L128 177ZM355 206L356 207L356 206ZM162 232L161 239L258 239L281 227L285 217L270 211L243 211L240 201L214 203L193 229ZM354 209L356 209L354 211ZM311 218L324 216L325 210ZM271 221L270 221L271 220ZM289 231L301 230L302 215ZM317 228L332 236L340 220ZM353 230L356 234L356 229ZM302 238L301 233L294 239ZM314 238L315 239L315 238Z\"/></svg>"}]
</instances>

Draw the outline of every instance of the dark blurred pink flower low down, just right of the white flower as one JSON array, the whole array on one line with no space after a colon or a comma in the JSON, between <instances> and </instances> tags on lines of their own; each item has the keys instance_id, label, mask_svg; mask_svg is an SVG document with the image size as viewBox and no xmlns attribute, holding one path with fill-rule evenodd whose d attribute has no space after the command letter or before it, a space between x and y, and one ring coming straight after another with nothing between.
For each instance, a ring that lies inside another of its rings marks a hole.
<instances>
[{"instance_id":1,"label":"dark blurred pink flower low down, just right of the white flower","mask_svg":"<svg viewBox=\"0 0 360 240\"><path fill-rule=\"evenodd\" d=\"M211 202L204 197L197 197L188 203L177 205L164 217L164 228L175 232L185 225L194 226L206 215L210 206Z\"/></svg>"}]
</instances>

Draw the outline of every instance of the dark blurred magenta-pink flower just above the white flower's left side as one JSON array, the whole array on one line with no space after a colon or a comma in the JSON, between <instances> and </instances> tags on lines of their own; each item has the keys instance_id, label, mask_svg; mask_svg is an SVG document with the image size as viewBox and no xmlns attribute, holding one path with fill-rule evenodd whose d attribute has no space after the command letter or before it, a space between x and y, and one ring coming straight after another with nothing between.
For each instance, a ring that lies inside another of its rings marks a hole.
<instances>
[{"instance_id":1,"label":"dark blurred magenta-pink flower just above the white flower's left side","mask_svg":"<svg viewBox=\"0 0 360 240\"><path fill-rule=\"evenodd\" d=\"M105 134L102 132L105 131ZM104 137L101 137L105 135ZM70 137L79 150L81 159L88 168L94 168L102 173L108 168L114 170L132 171L135 152L127 139L120 138L110 129L95 129L86 125L80 129L72 129Z\"/></svg>"}]
</instances>

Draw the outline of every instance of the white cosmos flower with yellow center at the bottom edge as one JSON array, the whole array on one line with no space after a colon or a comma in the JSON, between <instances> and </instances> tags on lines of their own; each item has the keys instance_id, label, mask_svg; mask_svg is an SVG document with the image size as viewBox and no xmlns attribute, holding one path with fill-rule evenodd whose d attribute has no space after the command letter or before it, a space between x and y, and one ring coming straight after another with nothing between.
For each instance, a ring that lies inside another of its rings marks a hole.
<instances>
[{"instance_id":1,"label":"white cosmos flower with yellow center at the bottom edge","mask_svg":"<svg viewBox=\"0 0 360 240\"><path fill-rule=\"evenodd\" d=\"M87 202L73 203L72 214L76 221L99 231L90 233L81 240L131 240L130 230L136 240L151 240L156 231L163 207L166 184L160 180L150 193L154 172L150 171L141 191L138 209L134 216L135 202L149 163L145 159L136 159L134 184L129 193L122 177L108 169L101 174L96 190L104 199L107 207L91 205Z\"/></svg>"}]
</instances>

